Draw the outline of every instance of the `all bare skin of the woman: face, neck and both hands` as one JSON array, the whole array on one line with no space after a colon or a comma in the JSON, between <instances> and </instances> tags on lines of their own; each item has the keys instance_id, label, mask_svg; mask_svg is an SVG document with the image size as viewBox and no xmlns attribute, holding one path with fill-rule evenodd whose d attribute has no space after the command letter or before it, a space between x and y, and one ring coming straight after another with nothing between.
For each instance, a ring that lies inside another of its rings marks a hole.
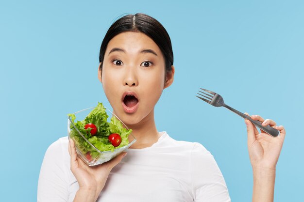
<instances>
[{"instance_id":1,"label":"all bare skin of the woman: face, neck and both hands","mask_svg":"<svg viewBox=\"0 0 304 202\"><path fill-rule=\"evenodd\" d=\"M118 51L112 51L118 48ZM145 52L142 50L153 50ZM152 62L145 67L144 62ZM101 67L102 66L102 70ZM147 35L140 32L123 32L109 42L103 64L100 64L98 78L103 90L114 109L114 113L132 128L136 142L132 148L140 149L152 146L159 139L154 121L154 106L163 90L169 87L174 78L174 66L165 71L165 62L159 47ZM138 95L139 107L135 113L127 113L122 107L121 96L125 91ZM277 138L257 129L250 121L245 120L248 132L248 151L253 166L253 202L272 202L275 179L275 167L285 138L283 126L276 126L274 121L260 116L253 120L280 130ZM71 171L75 175L79 190L74 202L96 202L104 187L109 172L126 153L118 155L111 161L96 167L88 167L78 156L74 142L70 141Z\"/></svg>"}]
</instances>

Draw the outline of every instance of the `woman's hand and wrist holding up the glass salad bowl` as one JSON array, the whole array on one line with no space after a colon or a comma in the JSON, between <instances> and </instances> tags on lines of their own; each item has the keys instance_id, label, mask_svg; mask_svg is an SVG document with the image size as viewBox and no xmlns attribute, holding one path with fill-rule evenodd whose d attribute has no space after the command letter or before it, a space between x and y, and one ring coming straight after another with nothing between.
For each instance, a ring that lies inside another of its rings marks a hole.
<instances>
[{"instance_id":1,"label":"woman's hand and wrist holding up the glass salad bowl","mask_svg":"<svg viewBox=\"0 0 304 202\"><path fill-rule=\"evenodd\" d=\"M96 202L110 171L127 154L123 152L106 163L89 167L77 156L75 144L72 139L69 139L68 153L71 156L70 169L79 184L79 190L73 202Z\"/></svg>"}]
</instances>

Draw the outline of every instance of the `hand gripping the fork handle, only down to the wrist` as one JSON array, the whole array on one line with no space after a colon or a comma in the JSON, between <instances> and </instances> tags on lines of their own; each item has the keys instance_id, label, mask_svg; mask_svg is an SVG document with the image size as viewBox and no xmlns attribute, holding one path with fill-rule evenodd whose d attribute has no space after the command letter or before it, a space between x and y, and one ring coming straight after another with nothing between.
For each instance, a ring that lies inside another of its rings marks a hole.
<instances>
[{"instance_id":1,"label":"hand gripping the fork handle, only down to the wrist","mask_svg":"<svg viewBox=\"0 0 304 202\"><path fill-rule=\"evenodd\" d=\"M263 126L270 125L280 131L277 137L272 137L263 130L259 133L249 120L245 120L248 134L248 151L253 169L275 170L286 134L285 129L282 125L277 126L274 121L264 120L258 115L253 115L251 118L261 122Z\"/></svg>"}]
</instances>

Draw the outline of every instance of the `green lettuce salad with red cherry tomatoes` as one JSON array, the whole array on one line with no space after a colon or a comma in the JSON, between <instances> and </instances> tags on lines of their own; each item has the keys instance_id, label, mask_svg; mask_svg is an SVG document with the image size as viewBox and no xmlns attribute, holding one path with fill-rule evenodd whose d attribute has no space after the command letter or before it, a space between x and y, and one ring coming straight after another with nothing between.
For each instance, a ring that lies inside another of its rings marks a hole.
<instances>
[{"instance_id":1,"label":"green lettuce salad with red cherry tomatoes","mask_svg":"<svg viewBox=\"0 0 304 202\"><path fill-rule=\"evenodd\" d=\"M78 149L88 160L94 159L99 155L86 140L88 140L100 152L114 151L129 144L128 136L132 129L124 128L122 123L112 116L111 121L107 122L108 115L102 103L98 103L83 121L75 121L75 114L68 114L71 123L79 130L81 135L73 126L70 125L69 136L74 140ZM86 139L84 139L84 138Z\"/></svg>"}]
</instances>

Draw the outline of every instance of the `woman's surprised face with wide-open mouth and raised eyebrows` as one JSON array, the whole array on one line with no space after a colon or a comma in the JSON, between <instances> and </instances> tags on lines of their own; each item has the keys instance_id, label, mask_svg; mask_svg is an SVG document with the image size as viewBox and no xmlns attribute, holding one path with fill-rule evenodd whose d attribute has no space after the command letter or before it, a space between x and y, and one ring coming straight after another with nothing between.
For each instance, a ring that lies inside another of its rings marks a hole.
<instances>
[{"instance_id":1,"label":"woman's surprised face with wide-open mouth and raised eyebrows","mask_svg":"<svg viewBox=\"0 0 304 202\"><path fill-rule=\"evenodd\" d=\"M128 31L108 43L99 79L113 112L125 124L145 124L154 121L154 106L173 81L172 69L165 71L163 54L150 37Z\"/></svg>"}]
</instances>

